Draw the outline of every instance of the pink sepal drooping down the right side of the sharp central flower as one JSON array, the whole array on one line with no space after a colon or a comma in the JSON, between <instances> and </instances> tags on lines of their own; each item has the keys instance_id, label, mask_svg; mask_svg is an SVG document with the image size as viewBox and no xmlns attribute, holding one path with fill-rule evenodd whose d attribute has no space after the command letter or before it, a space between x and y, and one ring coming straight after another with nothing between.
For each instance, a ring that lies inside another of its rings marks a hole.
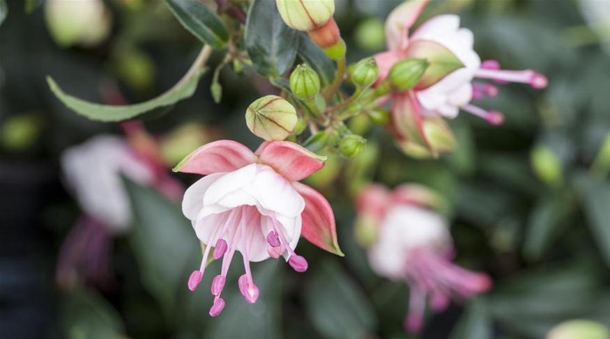
<instances>
[{"instance_id":1,"label":"pink sepal drooping down the right side of the sharp central flower","mask_svg":"<svg viewBox=\"0 0 610 339\"><path fill-rule=\"evenodd\" d=\"M293 182L292 185L305 199L305 210L301 214L303 228L301 228L300 235L323 250L343 256L337 242L335 214L333 214L328 200L305 184Z\"/></svg>"}]
</instances>

